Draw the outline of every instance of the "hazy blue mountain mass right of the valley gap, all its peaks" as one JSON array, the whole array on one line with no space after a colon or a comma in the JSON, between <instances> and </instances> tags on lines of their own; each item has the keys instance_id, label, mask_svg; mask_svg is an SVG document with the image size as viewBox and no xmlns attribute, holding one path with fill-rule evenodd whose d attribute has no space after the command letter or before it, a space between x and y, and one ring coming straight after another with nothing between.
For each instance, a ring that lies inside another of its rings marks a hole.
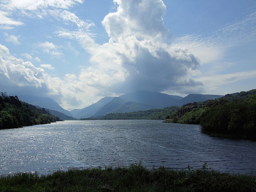
<instances>
[{"instance_id":1,"label":"hazy blue mountain mass right of the valley gap, all its peaks","mask_svg":"<svg viewBox=\"0 0 256 192\"><path fill-rule=\"evenodd\" d=\"M137 91L114 98L104 97L87 108L83 108L82 110L73 110L71 113L78 119L99 117L109 113L126 113L148 109L161 109L168 106L182 106L189 102L205 101L219 97L221 96L190 94L183 98L160 92Z\"/></svg>"}]
</instances>

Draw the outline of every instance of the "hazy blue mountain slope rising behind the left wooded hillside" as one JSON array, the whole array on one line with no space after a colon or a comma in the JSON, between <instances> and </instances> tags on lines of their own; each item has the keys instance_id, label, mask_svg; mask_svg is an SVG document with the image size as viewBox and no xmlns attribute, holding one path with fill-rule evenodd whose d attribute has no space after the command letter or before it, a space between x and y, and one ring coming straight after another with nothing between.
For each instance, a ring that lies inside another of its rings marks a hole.
<instances>
[{"instance_id":1,"label":"hazy blue mountain slope rising behind the left wooded hillside","mask_svg":"<svg viewBox=\"0 0 256 192\"><path fill-rule=\"evenodd\" d=\"M37 96L31 96L31 95L17 95L17 97L20 100L27 102L29 104L40 106L41 108L55 110L67 116L72 116L72 114L68 110L61 108L61 106L51 98L37 97Z\"/></svg>"}]
</instances>

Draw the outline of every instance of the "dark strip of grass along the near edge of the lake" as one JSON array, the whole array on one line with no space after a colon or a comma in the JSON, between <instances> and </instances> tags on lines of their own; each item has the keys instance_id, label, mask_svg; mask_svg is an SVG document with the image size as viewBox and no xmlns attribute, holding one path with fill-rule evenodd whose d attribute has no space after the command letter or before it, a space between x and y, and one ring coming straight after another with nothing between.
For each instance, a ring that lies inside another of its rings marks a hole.
<instances>
[{"instance_id":1,"label":"dark strip of grass along the near edge of the lake","mask_svg":"<svg viewBox=\"0 0 256 192\"><path fill-rule=\"evenodd\" d=\"M256 191L256 176L188 166L183 170L129 167L70 169L52 175L18 173L0 178L0 191Z\"/></svg>"}]
</instances>

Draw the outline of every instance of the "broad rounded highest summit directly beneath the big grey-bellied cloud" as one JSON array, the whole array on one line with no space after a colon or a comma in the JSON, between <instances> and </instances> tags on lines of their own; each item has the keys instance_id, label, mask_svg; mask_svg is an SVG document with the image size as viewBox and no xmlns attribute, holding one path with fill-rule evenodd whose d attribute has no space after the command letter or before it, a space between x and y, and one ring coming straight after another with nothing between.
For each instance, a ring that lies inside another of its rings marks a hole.
<instances>
[{"instance_id":1,"label":"broad rounded highest summit directly beneath the big grey-bellied cloud","mask_svg":"<svg viewBox=\"0 0 256 192\"><path fill-rule=\"evenodd\" d=\"M137 91L121 95L120 98L127 101L148 104L154 106L156 109L165 108L167 106L175 106L183 97L168 95L160 92Z\"/></svg>"}]
</instances>

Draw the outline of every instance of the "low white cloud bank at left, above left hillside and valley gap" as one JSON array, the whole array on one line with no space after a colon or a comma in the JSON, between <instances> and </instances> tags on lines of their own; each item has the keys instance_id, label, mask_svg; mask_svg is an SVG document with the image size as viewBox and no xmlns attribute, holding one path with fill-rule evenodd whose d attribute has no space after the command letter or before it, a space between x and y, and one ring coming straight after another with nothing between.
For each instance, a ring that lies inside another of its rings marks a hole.
<instances>
[{"instance_id":1,"label":"low white cloud bank at left, above left hillside and valley gap","mask_svg":"<svg viewBox=\"0 0 256 192\"><path fill-rule=\"evenodd\" d=\"M29 54L26 55L29 57ZM51 77L42 69L54 69L51 65L40 67L35 67L32 62L15 58L10 55L6 46L0 44L0 91L51 96L66 109L72 105L78 107L81 103L91 104L90 97L96 96L97 90L82 82L81 77L67 74L62 80L59 77ZM93 101L97 99L100 98L94 97Z\"/></svg>"}]
</instances>

